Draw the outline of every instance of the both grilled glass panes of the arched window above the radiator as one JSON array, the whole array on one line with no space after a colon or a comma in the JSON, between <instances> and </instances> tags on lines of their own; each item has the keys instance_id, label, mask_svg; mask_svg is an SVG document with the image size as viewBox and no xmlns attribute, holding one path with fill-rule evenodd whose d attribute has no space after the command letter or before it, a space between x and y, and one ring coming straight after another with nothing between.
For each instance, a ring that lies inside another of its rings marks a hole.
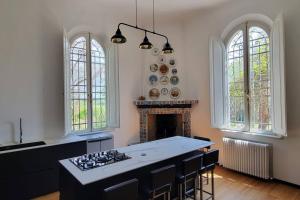
<instances>
[{"instance_id":1,"label":"both grilled glass panes of the arched window above the radiator","mask_svg":"<svg viewBox=\"0 0 300 200\"><path fill-rule=\"evenodd\" d=\"M262 25L247 22L229 37L225 80L230 129L271 131L269 35Z\"/></svg>"}]
</instances>

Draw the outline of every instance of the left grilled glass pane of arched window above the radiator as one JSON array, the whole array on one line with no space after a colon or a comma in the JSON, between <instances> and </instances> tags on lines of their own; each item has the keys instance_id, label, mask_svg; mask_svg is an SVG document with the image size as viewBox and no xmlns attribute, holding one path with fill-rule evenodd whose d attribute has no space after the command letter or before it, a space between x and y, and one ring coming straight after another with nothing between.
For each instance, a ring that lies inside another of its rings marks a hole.
<instances>
[{"instance_id":1,"label":"left grilled glass pane of arched window above the radiator","mask_svg":"<svg viewBox=\"0 0 300 200\"><path fill-rule=\"evenodd\" d=\"M228 118L231 129L245 126L244 38L236 32L227 46Z\"/></svg>"}]
</instances>

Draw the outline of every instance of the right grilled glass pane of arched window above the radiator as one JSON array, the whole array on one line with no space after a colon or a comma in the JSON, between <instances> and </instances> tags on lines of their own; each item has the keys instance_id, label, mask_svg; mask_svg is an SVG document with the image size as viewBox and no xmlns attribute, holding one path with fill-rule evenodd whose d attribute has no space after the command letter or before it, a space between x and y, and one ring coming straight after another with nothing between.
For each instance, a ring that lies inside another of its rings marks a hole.
<instances>
[{"instance_id":1,"label":"right grilled glass pane of arched window above the radiator","mask_svg":"<svg viewBox=\"0 0 300 200\"><path fill-rule=\"evenodd\" d=\"M271 131L270 39L259 27L249 29L250 131Z\"/></svg>"}]
</instances>

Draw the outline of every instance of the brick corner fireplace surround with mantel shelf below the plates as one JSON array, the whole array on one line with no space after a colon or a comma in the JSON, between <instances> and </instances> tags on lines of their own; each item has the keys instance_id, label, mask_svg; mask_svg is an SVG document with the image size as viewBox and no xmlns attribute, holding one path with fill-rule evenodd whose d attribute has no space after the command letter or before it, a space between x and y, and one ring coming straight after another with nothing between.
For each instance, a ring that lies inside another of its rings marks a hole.
<instances>
[{"instance_id":1,"label":"brick corner fireplace surround with mantel shelf below the plates","mask_svg":"<svg viewBox=\"0 0 300 200\"><path fill-rule=\"evenodd\" d=\"M148 141L148 117L155 114L182 115L182 136L191 136L191 109L198 100L182 101L135 101L140 113L140 142Z\"/></svg>"}]
</instances>

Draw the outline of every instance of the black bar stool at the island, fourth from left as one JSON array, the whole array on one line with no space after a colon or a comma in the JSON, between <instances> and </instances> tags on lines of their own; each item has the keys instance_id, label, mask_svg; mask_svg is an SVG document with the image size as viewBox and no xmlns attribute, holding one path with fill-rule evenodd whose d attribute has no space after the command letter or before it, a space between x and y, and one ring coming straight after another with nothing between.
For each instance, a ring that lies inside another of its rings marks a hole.
<instances>
[{"instance_id":1,"label":"black bar stool at the island, fourth from left","mask_svg":"<svg viewBox=\"0 0 300 200\"><path fill-rule=\"evenodd\" d=\"M203 200L203 193L209 194L207 199L215 199L215 181L214 181L214 169L219 161L219 150L210 150L203 155L203 166L199 170L199 186L200 200ZM203 176L204 173L211 173L211 192L203 189ZM206 199L206 200L207 200Z\"/></svg>"}]
</instances>

